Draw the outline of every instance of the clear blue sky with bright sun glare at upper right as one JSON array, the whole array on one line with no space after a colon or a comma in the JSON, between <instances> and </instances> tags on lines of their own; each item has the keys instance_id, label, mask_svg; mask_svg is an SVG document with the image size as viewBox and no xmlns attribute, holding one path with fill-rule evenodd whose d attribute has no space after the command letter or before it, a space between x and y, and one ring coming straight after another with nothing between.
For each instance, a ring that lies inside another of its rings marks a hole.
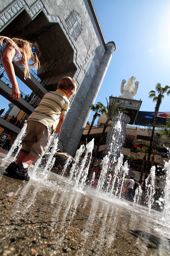
<instances>
[{"instance_id":1,"label":"clear blue sky with bright sun glare at upper right","mask_svg":"<svg viewBox=\"0 0 170 256\"><path fill-rule=\"evenodd\" d=\"M143 101L140 110L154 111L149 92L157 83L170 85L170 1L93 0L93 4L106 43L116 44L95 103L106 105L105 97L118 97L122 79L128 81L135 76L139 81L135 99ZM30 94L27 86L18 84L25 94ZM0 108L7 111L8 101L1 95L0 100ZM169 102L170 96L165 96L159 111L170 111Z\"/></svg>"}]
</instances>

